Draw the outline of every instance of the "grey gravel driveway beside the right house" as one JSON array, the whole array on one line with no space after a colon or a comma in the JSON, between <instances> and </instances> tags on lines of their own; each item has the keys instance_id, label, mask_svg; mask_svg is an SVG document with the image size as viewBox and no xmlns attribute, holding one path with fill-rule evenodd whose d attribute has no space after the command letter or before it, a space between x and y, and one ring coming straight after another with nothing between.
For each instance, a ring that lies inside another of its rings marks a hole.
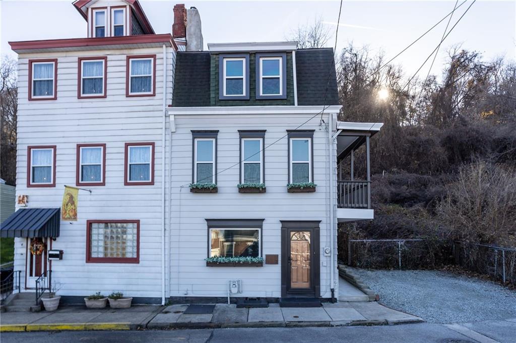
<instances>
[{"instance_id":1,"label":"grey gravel driveway beside the right house","mask_svg":"<svg viewBox=\"0 0 516 343\"><path fill-rule=\"evenodd\" d=\"M516 291L490 281L436 270L349 270L380 303L430 323L516 318Z\"/></svg>"}]
</instances>

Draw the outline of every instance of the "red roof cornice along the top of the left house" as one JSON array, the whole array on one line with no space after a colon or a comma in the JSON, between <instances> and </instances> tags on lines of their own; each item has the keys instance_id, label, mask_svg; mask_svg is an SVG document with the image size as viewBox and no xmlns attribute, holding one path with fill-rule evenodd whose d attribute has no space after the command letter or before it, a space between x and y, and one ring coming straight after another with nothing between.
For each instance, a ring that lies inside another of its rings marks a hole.
<instances>
[{"instance_id":1,"label":"red roof cornice along the top of the left house","mask_svg":"<svg viewBox=\"0 0 516 343\"><path fill-rule=\"evenodd\" d=\"M72 38L52 39L40 41L9 42L11 49L17 54L24 53L52 53L71 52L99 49L130 49L160 47L165 44L169 47L178 46L170 33L160 35L139 35L103 38Z\"/></svg>"}]
</instances>

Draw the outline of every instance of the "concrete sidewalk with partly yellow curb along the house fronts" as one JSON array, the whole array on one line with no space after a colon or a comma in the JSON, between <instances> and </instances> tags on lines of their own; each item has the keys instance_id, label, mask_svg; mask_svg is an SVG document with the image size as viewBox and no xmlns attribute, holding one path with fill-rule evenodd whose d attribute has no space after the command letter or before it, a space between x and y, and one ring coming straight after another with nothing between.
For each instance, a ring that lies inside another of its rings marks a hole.
<instances>
[{"instance_id":1,"label":"concrete sidewalk with partly yellow curb along the house fronts","mask_svg":"<svg viewBox=\"0 0 516 343\"><path fill-rule=\"evenodd\" d=\"M0 315L0 331L330 327L423 321L377 302L324 303L308 308L279 307L273 303L265 308L216 304L210 314L185 314L187 307L135 305L127 309L89 310L84 306L62 306L56 312L5 312Z\"/></svg>"}]
</instances>

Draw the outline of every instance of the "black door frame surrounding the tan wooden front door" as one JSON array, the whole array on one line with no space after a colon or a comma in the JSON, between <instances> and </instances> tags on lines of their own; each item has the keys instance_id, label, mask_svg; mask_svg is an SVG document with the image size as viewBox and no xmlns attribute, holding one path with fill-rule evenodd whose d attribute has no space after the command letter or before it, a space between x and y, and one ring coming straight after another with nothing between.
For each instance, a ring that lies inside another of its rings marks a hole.
<instances>
[{"instance_id":1,"label":"black door frame surrounding the tan wooden front door","mask_svg":"<svg viewBox=\"0 0 516 343\"><path fill-rule=\"evenodd\" d=\"M320 220L280 220L281 221L281 297L282 298L320 298ZM310 289L290 289L291 231L310 231Z\"/></svg>"}]
</instances>

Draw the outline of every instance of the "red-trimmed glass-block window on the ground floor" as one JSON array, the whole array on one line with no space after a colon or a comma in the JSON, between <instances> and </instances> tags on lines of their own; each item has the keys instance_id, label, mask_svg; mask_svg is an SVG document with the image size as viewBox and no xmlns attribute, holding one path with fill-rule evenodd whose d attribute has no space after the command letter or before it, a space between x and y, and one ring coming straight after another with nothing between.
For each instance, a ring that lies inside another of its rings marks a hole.
<instances>
[{"instance_id":1,"label":"red-trimmed glass-block window on the ground floor","mask_svg":"<svg viewBox=\"0 0 516 343\"><path fill-rule=\"evenodd\" d=\"M139 263L139 220L87 220L87 263Z\"/></svg>"}]
</instances>

